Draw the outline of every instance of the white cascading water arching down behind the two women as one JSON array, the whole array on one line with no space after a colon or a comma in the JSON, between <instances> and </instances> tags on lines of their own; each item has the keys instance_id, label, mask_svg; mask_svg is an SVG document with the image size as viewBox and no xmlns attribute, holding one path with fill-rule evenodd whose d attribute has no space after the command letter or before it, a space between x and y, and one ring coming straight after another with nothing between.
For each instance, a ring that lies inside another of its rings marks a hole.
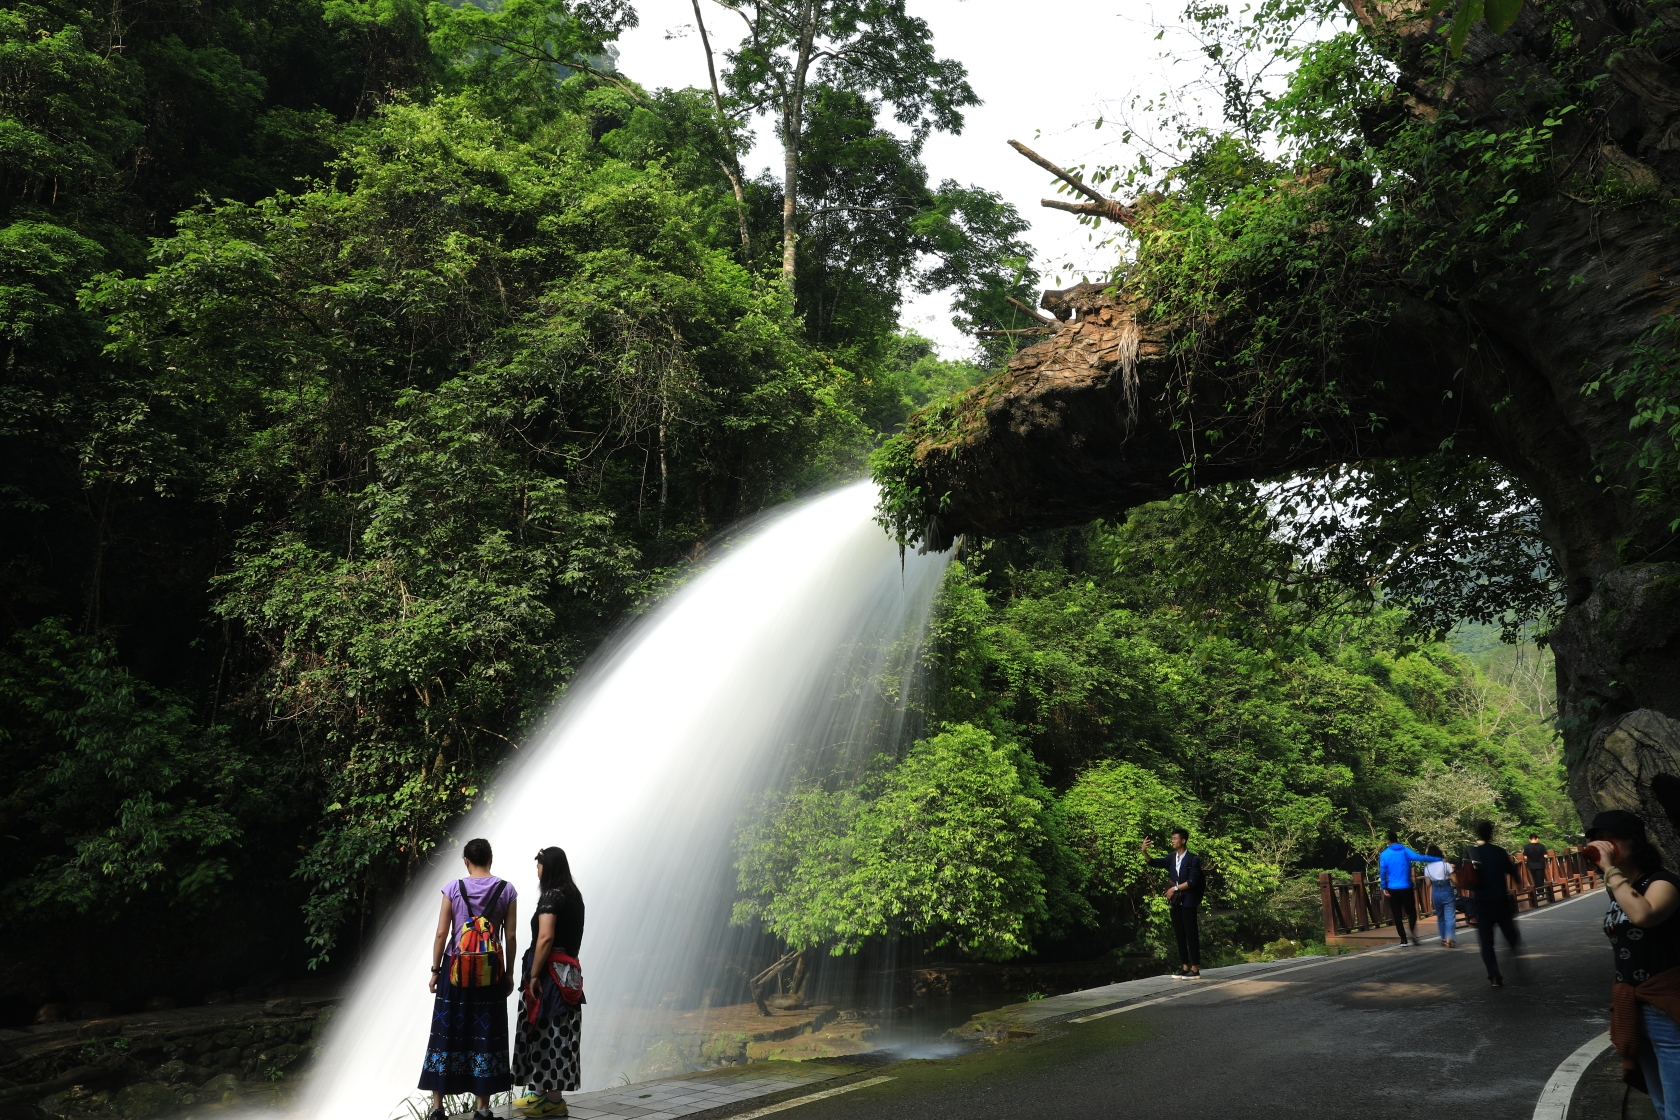
<instances>
[{"instance_id":1,"label":"white cascading water arching down behind the two women","mask_svg":"<svg viewBox=\"0 0 1680 1120\"><path fill-rule=\"evenodd\" d=\"M586 667L457 830L491 840L521 892L521 952L534 853L571 856L588 907L585 1090L642 1066L662 1006L697 1006L707 987L744 997L719 960L749 799L795 759L857 759L902 732L904 705L879 682L914 662L944 557L900 561L874 504L874 485L850 485L738 539ZM462 875L455 856L417 875L361 966L311 1078L311 1117L385 1120L418 1095L437 892Z\"/></svg>"}]
</instances>

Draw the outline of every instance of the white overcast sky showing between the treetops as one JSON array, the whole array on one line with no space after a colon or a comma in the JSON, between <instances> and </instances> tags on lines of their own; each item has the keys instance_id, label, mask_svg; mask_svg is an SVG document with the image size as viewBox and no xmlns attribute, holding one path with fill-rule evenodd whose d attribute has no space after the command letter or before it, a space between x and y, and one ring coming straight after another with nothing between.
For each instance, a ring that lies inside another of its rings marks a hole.
<instances>
[{"instance_id":1,"label":"white overcast sky showing between the treetops","mask_svg":"<svg viewBox=\"0 0 1680 1120\"><path fill-rule=\"evenodd\" d=\"M1105 156L1099 149L1114 139L1116 129L1090 128L1104 102L1119 104L1132 92L1152 94L1174 81L1171 64L1159 59L1151 7L1142 0L1099 2L1077 10L1020 0L911 0L909 8L927 20L941 55L968 67L969 82L984 102L966 111L961 136L936 133L927 139L922 158L929 178L974 183L1013 201L1032 222L1028 238L1045 285L1074 284L1082 272L1095 275L1110 267L1114 249L1095 249L1089 227L1038 205L1053 195L1053 180L1005 141L1018 139L1063 166L1112 161L1112 148ZM706 55L689 0L640 0L637 10L642 24L618 40L618 69L648 87L704 87ZM739 40L739 17L711 0L702 0L701 10L714 50ZM1178 5L1168 0L1158 12L1171 20ZM1189 77L1183 74L1181 81ZM761 123L756 131L748 175L780 163L771 129ZM942 296L909 301L904 326L939 343L948 358L969 349L951 326Z\"/></svg>"}]
</instances>

